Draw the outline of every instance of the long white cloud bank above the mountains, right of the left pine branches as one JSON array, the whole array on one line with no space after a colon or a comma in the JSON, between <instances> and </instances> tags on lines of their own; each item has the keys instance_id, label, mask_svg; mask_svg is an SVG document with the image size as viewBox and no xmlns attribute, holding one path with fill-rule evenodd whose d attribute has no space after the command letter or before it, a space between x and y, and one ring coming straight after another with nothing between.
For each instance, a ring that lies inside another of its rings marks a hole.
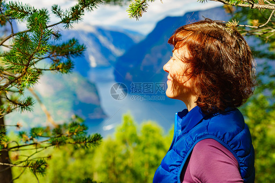
<instances>
[{"instance_id":1,"label":"long white cloud bank above the mountains, right of the left pine branches","mask_svg":"<svg viewBox=\"0 0 275 183\"><path fill-rule=\"evenodd\" d=\"M183 16L185 12L203 10L211 7L221 6L219 2L199 3L197 0L162 0L149 3L146 13L137 21L130 19L125 6L102 5L93 12L87 12L84 23L91 25L112 26L130 29L148 34L156 23L167 16Z\"/></svg>"}]
</instances>

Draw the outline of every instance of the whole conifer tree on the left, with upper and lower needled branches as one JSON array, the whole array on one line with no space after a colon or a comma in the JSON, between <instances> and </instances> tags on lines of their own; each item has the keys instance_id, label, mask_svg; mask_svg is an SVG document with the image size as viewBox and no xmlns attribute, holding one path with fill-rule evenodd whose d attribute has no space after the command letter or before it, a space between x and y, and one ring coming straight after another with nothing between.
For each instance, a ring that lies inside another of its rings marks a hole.
<instances>
[{"instance_id":1,"label":"whole conifer tree on the left, with upper and lower needled branches","mask_svg":"<svg viewBox=\"0 0 275 183\"><path fill-rule=\"evenodd\" d=\"M61 74L71 72L73 58L81 56L86 47L76 39L63 43L61 34L53 27L63 25L69 29L79 22L85 11L93 11L101 3L121 4L122 0L77 0L69 9L63 10L59 5L52 5L50 10L37 9L21 2L6 2L0 0L0 26L9 27L10 32L0 37L0 182L12 183L20 177L12 177L12 167L22 167L22 174L29 169L37 178L46 172L47 158L34 158L37 153L50 146L72 144L75 148L89 148L101 141L100 134L87 135L87 127L83 121L75 117L69 123L54 127L35 127L29 132L21 131L20 142L10 142L6 136L4 116L15 110L31 111L34 100L24 97L24 91L33 87L44 72L54 71ZM50 22L50 14L59 21ZM14 23L23 21L26 29L15 32ZM38 63L44 59L51 61L47 68L41 68ZM20 128L18 123L14 127ZM12 127L10 127L12 128ZM21 150L30 151L23 161L11 162L9 152ZM83 183L91 182L87 178Z\"/></svg>"}]
</instances>

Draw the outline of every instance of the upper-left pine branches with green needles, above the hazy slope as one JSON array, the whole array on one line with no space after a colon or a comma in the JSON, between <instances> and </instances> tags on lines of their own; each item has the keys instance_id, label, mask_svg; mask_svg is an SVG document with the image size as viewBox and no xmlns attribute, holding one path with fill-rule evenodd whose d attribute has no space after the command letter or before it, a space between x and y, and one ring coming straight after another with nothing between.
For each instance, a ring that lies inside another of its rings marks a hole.
<instances>
[{"instance_id":1,"label":"upper-left pine branches with green needles, above the hazy slope","mask_svg":"<svg viewBox=\"0 0 275 183\"><path fill-rule=\"evenodd\" d=\"M51 70L62 74L71 72L72 59L81 56L86 47L74 38L56 43L55 40L61 40L61 35L51 27L63 24L69 28L81 20L85 10L92 11L101 3L101 0L78 0L78 3L67 10L62 10L58 5L52 5L51 13L60 21L49 25L48 10L37 9L21 2L9 1L6 4L5 1L1 1L1 25L10 26L11 34L0 40L0 46L8 48L0 52L2 62L0 75L3 83L0 85L0 93L4 94L2 102L7 105L2 107L0 115L14 110L31 109L30 106L33 104L31 98L23 101L19 99L24 89L38 82L43 71ZM14 20L24 21L26 30L14 33L12 24ZM7 40L12 41L7 43ZM44 59L50 59L52 64L48 68L39 68L38 63Z\"/></svg>"}]
</instances>

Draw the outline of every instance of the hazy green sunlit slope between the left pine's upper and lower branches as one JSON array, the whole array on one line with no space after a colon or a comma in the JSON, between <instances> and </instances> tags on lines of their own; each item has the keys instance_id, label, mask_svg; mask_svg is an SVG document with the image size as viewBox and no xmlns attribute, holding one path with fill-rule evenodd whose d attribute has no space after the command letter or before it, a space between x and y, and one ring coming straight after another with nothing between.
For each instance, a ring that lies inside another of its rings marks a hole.
<instances>
[{"instance_id":1,"label":"hazy green sunlit slope between the left pine's upper and lower branches","mask_svg":"<svg viewBox=\"0 0 275 183\"><path fill-rule=\"evenodd\" d=\"M33 89L57 123L68 122L74 114L86 121L107 117L100 106L96 85L78 73L61 75L45 72ZM24 96L35 99L28 90ZM46 115L37 100L35 102L33 112L6 115L7 124L21 122L23 127L46 125Z\"/></svg>"}]
</instances>

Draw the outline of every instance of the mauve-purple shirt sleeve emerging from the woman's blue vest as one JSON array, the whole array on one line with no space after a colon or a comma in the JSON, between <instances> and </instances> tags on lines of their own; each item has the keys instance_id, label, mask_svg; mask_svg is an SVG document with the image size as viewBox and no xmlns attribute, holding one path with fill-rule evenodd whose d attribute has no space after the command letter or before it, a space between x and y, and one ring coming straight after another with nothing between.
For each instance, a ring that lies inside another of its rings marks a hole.
<instances>
[{"instance_id":1,"label":"mauve-purple shirt sleeve emerging from the woman's blue vest","mask_svg":"<svg viewBox=\"0 0 275 183\"><path fill-rule=\"evenodd\" d=\"M213 139L198 142L181 174L182 183L243 183L233 154Z\"/></svg>"}]
</instances>

